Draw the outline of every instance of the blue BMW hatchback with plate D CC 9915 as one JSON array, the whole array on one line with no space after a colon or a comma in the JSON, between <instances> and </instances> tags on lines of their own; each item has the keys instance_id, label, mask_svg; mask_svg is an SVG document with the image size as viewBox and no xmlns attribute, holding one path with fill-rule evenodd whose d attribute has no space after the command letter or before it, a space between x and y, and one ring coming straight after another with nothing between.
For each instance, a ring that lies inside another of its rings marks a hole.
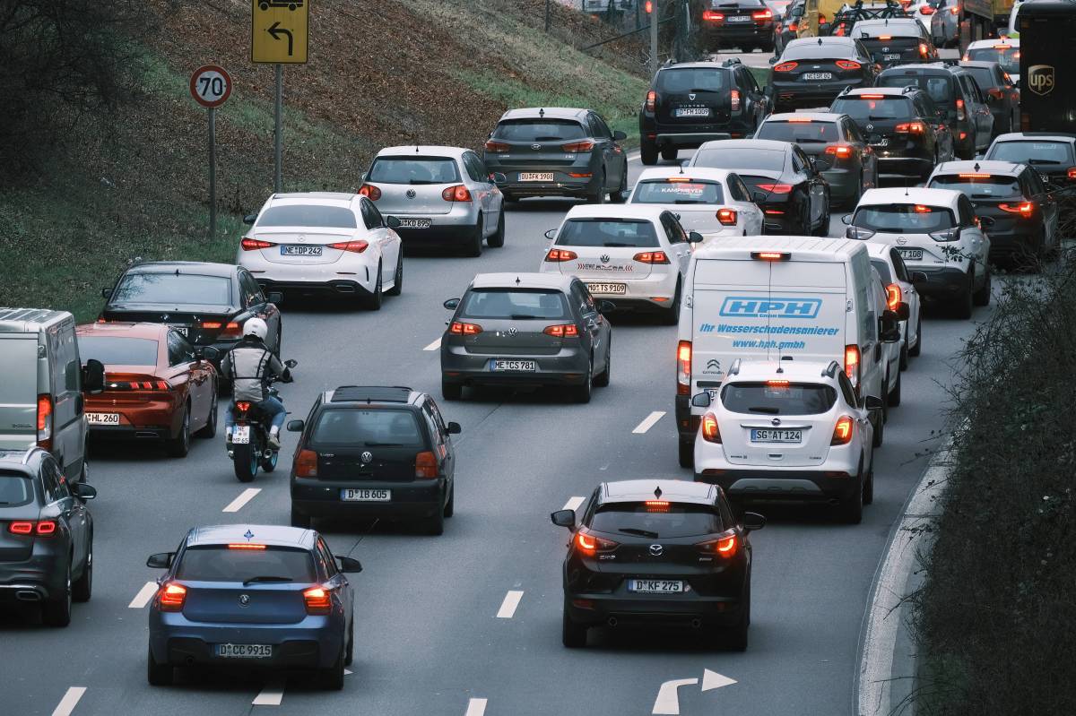
<instances>
[{"instance_id":1,"label":"blue BMW hatchback with plate D CC 9915","mask_svg":"<svg viewBox=\"0 0 1076 716\"><path fill-rule=\"evenodd\" d=\"M334 557L314 530L268 525L196 527L174 553L150 606L146 676L174 667L313 669L343 688L354 650L352 588L358 560Z\"/></svg>"}]
</instances>

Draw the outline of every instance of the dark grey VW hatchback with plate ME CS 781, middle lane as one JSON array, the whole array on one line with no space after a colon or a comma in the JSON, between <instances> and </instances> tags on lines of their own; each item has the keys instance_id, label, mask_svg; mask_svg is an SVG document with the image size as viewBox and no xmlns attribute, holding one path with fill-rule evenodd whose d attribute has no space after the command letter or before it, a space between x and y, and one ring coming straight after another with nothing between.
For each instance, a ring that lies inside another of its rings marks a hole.
<instances>
[{"instance_id":1,"label":"dark grey VW hatchback with plate ME CS 781, middle lane","mask_svg":"<svg viewBox=\"0 0 1076 716\"><path fill-rule=\"evenodd\" d=\"M459 400L464 386L569 386L577 402L609 385L612 329L575 276L480 273L441 339L441 393Z\"/></svg>"}]
</instances>

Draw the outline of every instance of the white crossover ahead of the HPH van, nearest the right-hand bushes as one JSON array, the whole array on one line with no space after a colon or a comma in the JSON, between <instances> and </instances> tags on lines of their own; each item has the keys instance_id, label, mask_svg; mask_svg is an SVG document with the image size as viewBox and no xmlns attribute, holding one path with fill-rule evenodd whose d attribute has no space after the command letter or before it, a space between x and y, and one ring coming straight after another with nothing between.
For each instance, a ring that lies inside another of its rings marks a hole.
<instances>
[{"instance_id":1,"label":"white crossover ahead of the HPH van, nearest the right-hand bushes","mask_svg":"<svg viewBox=\"0 0 1076 716\"><path fill-rule=\"evenodd\" d=\"M844 220L849 239L895 246L909 270L925 274L920 293L945 301L955 317L989 305L990 239L960 191L869 189Z\"/></svg>"}]
</instances>

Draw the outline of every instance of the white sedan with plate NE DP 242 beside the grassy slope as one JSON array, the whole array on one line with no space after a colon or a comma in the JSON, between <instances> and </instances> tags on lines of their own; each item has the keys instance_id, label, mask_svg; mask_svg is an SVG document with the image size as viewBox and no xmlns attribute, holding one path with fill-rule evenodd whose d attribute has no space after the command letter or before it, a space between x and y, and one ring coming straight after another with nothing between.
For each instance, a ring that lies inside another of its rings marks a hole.
<instances>
[{"instance_id":1,"label":"white sedan with plate NE DP 242 beside the grassy slope","mask_svg":"<svg viewBox=\"0 0 1076 716\"><path fill-rule=\"evenodd\" d=\"M274 194L239 242L236 263L267 290L358 299L381 307L404 286L400 238L366 197L311 191Z\"/></svg>"}]
</instances>

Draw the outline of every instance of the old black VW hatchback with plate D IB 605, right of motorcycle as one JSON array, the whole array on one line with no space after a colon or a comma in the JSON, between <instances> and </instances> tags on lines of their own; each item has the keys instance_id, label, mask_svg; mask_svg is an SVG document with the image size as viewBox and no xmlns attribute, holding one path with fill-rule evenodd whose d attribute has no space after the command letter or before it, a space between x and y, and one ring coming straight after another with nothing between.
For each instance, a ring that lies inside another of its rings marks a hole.
<instances>
[{"instance_id":1,"label":"old black VW hatchback with plate D IB 605, right of motorcycle","mask_svg":"<svg viewBox=\"0 0 1076 716\"><path fill-rule=\"evenodd\" d=\"M292 526L312 517L421 519L440 534L454 506L461 430L434 399L404 387L342 386L314 401L292 463Z\"/></svg>"}]
</instances>

